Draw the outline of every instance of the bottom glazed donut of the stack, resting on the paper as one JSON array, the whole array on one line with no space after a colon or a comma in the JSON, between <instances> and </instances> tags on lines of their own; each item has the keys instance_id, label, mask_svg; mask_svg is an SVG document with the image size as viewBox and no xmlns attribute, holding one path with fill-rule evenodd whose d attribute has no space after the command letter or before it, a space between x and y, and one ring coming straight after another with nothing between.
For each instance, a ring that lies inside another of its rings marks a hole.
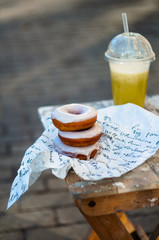
<instances>
[{"instance_id":1,"label":"bottom glazed donut of the stack, resting on the paper","mask_svg":"<svg viewBox=\"0 0 159 240\"><path fill-rule=\"evenodd\" d=\"M79 158L81 160L88 160L90 158L95 157L99 150L98 142L87 147L71 147L65 145L60 138L57 136L54 140L54 148L58 153L63 155L72 157L72 158Z\"/></svg>"}]
</instances>

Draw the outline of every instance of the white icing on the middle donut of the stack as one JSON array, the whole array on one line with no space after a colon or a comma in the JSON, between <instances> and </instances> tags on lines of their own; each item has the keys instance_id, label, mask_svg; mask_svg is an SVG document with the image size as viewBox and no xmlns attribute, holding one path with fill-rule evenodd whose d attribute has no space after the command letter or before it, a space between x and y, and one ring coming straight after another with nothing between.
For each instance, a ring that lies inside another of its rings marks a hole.
<instances>
[{"instance_id":1,"label":"white icing on the middle donut of the stack","mask_svg":"<svg viewBox=\"0 0 159 240\"><path fill-rule=\"evenodd\" d=\"M102 134L102 129L98 123L95 123L91 128L85 130L74 132L59 131L59 135L67 139L90 139L100 134Z\"/></svg>"}]
</instances>

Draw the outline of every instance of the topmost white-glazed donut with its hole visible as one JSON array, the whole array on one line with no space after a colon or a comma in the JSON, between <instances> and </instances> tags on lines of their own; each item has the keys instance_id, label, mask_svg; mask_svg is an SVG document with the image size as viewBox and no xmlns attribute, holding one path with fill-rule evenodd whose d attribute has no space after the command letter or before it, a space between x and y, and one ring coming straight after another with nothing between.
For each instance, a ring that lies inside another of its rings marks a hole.
<instances>
[{"instance_id":1,"label":"topmost white-glazed donut with its hole visible","mask_svg":"<svg viewBox=\"0 0 159 240\"><path fill-rule=\"evenodd\" d=\"M83 104L68 104L51 114L55 127L60 131L77 131L92 127L97 120L97 110Z\"/></svg>"}]
</instances>

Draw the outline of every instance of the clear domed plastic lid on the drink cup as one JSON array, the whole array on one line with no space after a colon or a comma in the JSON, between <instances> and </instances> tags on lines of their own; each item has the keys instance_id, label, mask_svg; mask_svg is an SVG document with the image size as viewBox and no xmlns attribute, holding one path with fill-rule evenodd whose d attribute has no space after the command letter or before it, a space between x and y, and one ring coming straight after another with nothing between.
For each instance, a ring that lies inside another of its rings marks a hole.
<instances>
[{"instance_id":1,"label":"clear domed plastic lid on the drink cup","mask_svg":"<svg viewBox=\"0 0 159 240\"><path fill-rule=\"evenodd\" d=\"M148 40L139 33L122 33L112 39L105 52L108 61L154 61Z\"/></svg>"}]
</instances>

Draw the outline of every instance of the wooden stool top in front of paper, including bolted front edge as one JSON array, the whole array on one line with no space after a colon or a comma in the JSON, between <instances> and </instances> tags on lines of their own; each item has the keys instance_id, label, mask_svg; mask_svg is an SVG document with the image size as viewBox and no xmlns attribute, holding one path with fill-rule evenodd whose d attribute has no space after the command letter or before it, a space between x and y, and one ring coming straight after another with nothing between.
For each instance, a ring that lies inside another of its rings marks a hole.
<instances>
[{"instance_id":1,"label":"wooden stool top in front of paper, including bolted front edge","mask_svg":"<svg viewBox=\"0 0 159 240\"><path fill-rule=\"evenodd\" d=\"M158 206L159 152L119 178L85 181L70 171L66 183L88 215Z\"/></svg>"}]
</instances>

